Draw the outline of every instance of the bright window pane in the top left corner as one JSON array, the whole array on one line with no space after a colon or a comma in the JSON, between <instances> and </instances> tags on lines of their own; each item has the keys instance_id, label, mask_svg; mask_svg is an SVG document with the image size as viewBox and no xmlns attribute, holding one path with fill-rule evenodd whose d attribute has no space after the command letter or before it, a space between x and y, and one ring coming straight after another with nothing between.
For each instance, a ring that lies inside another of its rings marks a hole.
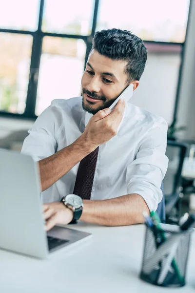
<instances>
[{"instance_id":1,"label":"bright window pane in the top left corner","mask_svg":"<svg viewBox=\"0 0 195 293\"><path fill-rule=\"evenodd\" d=\"M0 28L35 31L39 0L0 0Z\"/></svg>"}]
</instances>

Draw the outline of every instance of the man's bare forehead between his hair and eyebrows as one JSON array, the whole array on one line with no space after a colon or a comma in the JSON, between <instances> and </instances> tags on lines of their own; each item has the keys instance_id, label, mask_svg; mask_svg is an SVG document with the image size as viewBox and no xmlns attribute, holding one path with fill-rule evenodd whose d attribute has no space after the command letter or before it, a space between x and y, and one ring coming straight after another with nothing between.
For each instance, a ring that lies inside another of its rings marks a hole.
<instances>
[{"instance_id":1,"label":"man's bare forehead between his hair and eyebrows","mask_svg":"<svg viewBox=\"0 0 195 293\"><path fill-rule=\"evenodd\" d=\"M90 63L95 71L110 72L113 73L116 77L119 74L125 74L124 69L127 64L126 61L112 60L109 57L100 55L95 50L90 53L88 63Z\"/></svg>"}]
</instances>

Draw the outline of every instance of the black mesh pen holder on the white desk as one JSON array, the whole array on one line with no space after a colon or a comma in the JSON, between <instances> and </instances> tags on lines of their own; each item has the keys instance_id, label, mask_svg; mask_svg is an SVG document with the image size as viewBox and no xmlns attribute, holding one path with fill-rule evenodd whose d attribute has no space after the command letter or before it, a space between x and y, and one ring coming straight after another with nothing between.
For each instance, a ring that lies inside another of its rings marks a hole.
<instances>
[{"instance_id":1,"label":"black mesh pen holder on the white desk","mask_svg":"<svg viewBox=\"0 0 195 293\"><path fill-rule=\"evenodd\" d=\"M147 227L140 278L162 287L184 286L191 232Z\"/></svg>"}]
</instances>

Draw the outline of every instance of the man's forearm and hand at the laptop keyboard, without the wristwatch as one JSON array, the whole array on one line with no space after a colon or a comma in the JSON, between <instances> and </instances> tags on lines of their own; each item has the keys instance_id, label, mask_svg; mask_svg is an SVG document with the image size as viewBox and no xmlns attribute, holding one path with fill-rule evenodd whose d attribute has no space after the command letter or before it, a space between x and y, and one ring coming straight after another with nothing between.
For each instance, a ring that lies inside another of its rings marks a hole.
<instances>
[{"instance_id":1,"label":"man's forearm and hand at the laptop keyboard, without the wristwatch","mask_svg":"<svg viewBox=\"0 0 195 293\"><path fill-rule=\"evenodd\" d=\"M73 212L63 203L43 206L47 231L57 224L66 225L73 219ZM80 220L104 226L141 224L143 211L149 213L144 199L138 194L127 194L106 200L84 200Z\"/></svg>"}]
</instances>

